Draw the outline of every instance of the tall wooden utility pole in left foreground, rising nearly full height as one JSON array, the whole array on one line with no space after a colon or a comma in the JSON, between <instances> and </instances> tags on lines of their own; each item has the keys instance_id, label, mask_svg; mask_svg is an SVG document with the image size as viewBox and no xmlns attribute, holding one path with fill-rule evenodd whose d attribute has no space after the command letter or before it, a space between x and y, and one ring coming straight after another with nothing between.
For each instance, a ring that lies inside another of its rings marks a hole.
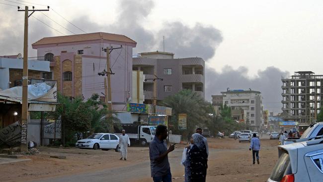
<instances>
[{"instance_id":1,"label":"tall wooden utility pole in left foreground, rising nearly full height","mask_svg":"<svg viewBox=\"0 0 323 182\"><path fill-rule=\"evenodd\" d=\"M32 15L35 11L49 11L48 9L36 9L32 6L32 10L25 6L25 9L20 9L18 6L18 11L25 12L25 26L24 26L24 38L23 38L23 76L22 76L22 112L21 112L21 145L20 152L28 151L27 146L27 123L28 123L28 17ZM32 11L28 15L28 11Z\"/></svg>"}]
</instances>

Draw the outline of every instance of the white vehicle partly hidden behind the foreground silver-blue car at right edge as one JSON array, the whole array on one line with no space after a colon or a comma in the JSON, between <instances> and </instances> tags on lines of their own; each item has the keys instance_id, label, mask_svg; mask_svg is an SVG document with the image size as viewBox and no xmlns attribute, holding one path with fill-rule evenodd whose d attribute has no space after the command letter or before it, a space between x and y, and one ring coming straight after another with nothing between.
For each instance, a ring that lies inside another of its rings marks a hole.
<instances>
[{"instance_id":1,"label":"white vehicle partly hidden behind the foreground silver-blue car at right edge","mask_svg":"<svg viewBox=\"0 0 323 182\"><path fill-rule=\"evenodd\" d=\"M303 133L300 138L287 138L284 144L308 141L311 139L322 138L323 122L312 123Z\"/></svg>"}]
</instances>

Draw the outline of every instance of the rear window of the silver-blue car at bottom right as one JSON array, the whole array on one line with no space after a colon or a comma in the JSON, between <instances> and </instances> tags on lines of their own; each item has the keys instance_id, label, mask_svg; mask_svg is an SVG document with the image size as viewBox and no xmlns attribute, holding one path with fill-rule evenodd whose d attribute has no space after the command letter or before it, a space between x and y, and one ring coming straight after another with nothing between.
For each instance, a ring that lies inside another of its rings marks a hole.
<instances>
[{"instance_id":1,"label":"rear window of the silver-blue car at bottom right","mask_svg":"<svg viewBox=\"0 0 323 182\"><path fill-rule=\"evenodd\" d=\"M283 153L278 159L273 171L270 175L270 180L280 182L284 175L291 174L290 159L288 153Z\"/></svg>"}]
</instances>

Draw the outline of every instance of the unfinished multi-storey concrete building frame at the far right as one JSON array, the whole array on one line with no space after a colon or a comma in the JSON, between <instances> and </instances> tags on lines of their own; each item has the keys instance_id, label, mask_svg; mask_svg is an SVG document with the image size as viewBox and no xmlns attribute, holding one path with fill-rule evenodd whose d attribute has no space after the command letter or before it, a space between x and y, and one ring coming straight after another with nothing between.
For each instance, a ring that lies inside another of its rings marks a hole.
<instances>
[{"instance_id":1,"label":"unfinished multi-storey concrete building frame at the far right","mask_svg":"<svg viewBox=\"0 0 323 182\"><path fill-rule=\"evenodd\" d=\"M284 121L299 124L315 122L322 106L323 75L311 71L295 72L289 79L282 79Z\"/></svg>"}]
</instances>

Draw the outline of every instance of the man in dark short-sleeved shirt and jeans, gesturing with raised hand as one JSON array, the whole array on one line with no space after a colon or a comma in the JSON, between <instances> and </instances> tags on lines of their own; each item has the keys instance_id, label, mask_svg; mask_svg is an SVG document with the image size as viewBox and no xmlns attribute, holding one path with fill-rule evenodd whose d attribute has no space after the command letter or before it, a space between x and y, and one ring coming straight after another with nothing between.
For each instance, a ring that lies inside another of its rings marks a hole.
<instances>
[{"instance_id":1,"label":"man in dark short-sleeved shirt and jeans, gesturing with raised hand","mask_svg":"<svg viewBox=\"0 0 323 182\"><path fill-rule=\"evenodd\" d=\"M167 145L164 142L166 138L166 126L158 125L155 138L149 146L151 175L154 182L171 182L168 153L174 150L174 146L171 145L167 149Z\"/></svg>"}]
</instances>

